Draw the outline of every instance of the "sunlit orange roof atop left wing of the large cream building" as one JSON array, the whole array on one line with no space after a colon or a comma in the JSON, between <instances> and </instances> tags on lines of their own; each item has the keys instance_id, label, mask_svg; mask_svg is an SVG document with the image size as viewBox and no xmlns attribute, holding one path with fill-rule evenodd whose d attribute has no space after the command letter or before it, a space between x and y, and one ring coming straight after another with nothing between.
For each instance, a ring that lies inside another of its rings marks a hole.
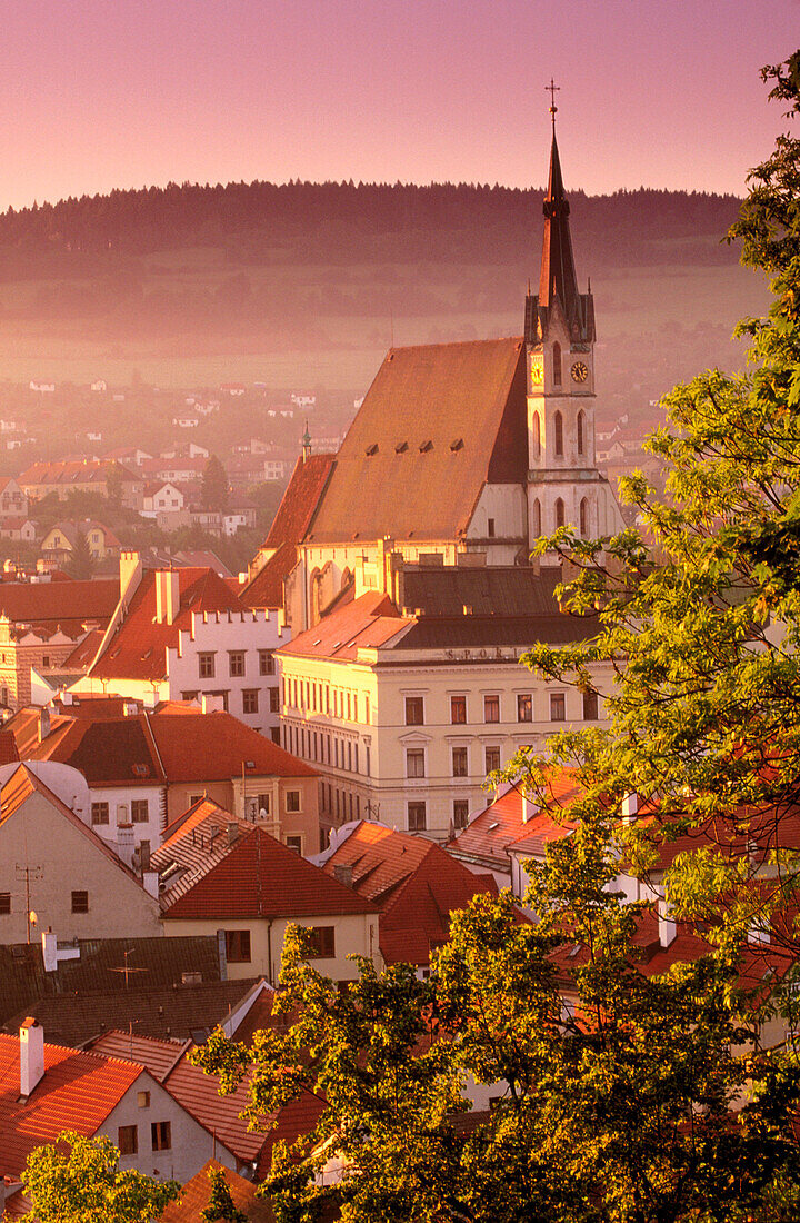
<instances>
[{"instance_id":1,"label":"sunlit orange roof atop left wing of the large cream building","mask_svg":"<svg viewBox=\"0 0 800 1223\"><path fill-rule=\"evenodd\" d=\"M353 659L359 648L379 648L408 630L414 616L401 616L388 594L369 591L352 603L344 603L313 629L293 637L276 653L304 658Z\"/></svg>"}]
</instances>

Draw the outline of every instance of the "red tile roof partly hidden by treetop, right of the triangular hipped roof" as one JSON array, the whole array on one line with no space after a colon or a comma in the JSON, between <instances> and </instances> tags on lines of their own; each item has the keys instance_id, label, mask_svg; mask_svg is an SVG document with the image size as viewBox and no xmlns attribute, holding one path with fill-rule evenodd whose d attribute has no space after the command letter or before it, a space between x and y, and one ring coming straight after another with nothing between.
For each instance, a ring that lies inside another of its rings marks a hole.
<instances>
[{"instance_id":1,"label":"red tile roof partly hidden by treetop, right of the triangular hipped roof","mask_svg":"<svg viewBox=\"0 0 800 1223\"><path fill-rule=\"evenodd\" d=\"M497 895L491 874L474 874L434 841L362 822L324 870L352 868L352 887L381 910L380 948L387 964L427 964L449 938L449 915L474 895Z\"/></svg>"}]
</instances>

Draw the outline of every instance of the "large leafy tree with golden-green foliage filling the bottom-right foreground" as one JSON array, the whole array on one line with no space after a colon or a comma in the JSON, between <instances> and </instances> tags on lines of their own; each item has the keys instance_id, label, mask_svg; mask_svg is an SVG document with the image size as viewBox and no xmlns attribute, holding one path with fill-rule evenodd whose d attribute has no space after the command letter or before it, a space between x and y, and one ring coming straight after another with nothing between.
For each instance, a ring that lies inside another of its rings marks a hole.
<instances>
[{"instance_id":1,"label":"large leafy tree with golden-green foliage filling the bottom-right foreground","mask_svg":"<svg viewBox=\"0 0 800 1223\"><path fill-rule=\"evenodd\" d=\"M277 1008L299 1019L250 1049L217 1031L195 1054L226 1088L255 1060L254 1119L302 1091L325 1099L308 1139L276 1145L281 1223L332 1205L359 1223L800 1217L795 1059L754 1052L733 961L641 971L646 906L609 889L616 870L591 830L556 843L534 870L539 920L508 893L475 898L427 981L359 959L342 991L305 963L303 932L287 937ZM469 1080L490 1113L470 1117ZM331 1157L346 1175L326 1185Z\"/></svg>"}]
</instances>

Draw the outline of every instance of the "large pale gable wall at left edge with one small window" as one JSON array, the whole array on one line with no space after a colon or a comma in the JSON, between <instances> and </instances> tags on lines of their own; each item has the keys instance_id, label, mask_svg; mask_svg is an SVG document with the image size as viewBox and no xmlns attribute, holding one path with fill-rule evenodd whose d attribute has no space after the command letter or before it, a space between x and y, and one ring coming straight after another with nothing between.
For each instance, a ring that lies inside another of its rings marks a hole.
<instances>
[{"instance_id":1,"label":"large pale gable wall at left edge with one small window","mask_svg":"<svg viewBox=\"0 0 800 1223\"><path fill-rule=\"evenodd\" d=\"M72 912L73 890L88 892L88 912ZM0 824L0 893L11 896L0 943L27 940L28 905L62 939L162 934L158 901L38 791Z\"/></svg>"}]
</instances>

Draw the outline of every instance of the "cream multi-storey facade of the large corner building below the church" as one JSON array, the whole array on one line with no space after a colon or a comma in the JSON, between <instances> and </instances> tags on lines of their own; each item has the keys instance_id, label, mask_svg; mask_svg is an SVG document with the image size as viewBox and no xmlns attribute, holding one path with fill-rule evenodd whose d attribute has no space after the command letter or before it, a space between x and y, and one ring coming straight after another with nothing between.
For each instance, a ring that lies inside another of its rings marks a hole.
<instances>
[{"instance_id":1,"label":"cream multi-storey facade of the large corner building below the church","mask_svg":"<svg viewBox=\"0 0 800 1223\"><path fill-rule=\"evenodd\" d=\"M487 748L500 751L502 767L519 747L541 748L557 730L587 725L581 695L536 679L519 665L520 653L512 647L403 651L401 658L399 651L381 649L359 651L353 662L278 653L283 746L320 773L321 824L373 818L408 829L409 802L424 802L425 832L445 840L453 830L456 802L467 801L470 813L486 806ZM611 679L609 668L598 664L601 691ZM526 695L533 720L520 722L518 696ZM551 718L551 695L563 695L563 722ZM453 696L467 700L465 724L451 722ZM485 720L490 696L500 698L497 723ZM405 724L405 697L423 698L423 725ZM343 715L333 712L342 708ZM598 714L591 724L606 725L602 701ZM453 775L453 748L467 750L465 777ZM424 753L424 777L409 775L409 751Z\"/></svg>"}]
</instances>

